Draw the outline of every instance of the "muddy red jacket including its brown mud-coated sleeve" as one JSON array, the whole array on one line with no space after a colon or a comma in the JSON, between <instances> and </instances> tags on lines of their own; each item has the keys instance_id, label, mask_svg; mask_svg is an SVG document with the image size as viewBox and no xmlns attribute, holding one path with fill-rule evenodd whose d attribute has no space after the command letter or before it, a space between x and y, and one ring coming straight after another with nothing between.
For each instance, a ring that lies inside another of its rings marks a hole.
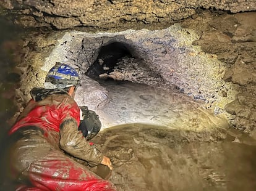
<instances>
[{"instance_id":1,"label":"muddy red jacket including its brown mud-coated sleeve","mask_svg":"<svg viewBox=\"0 0 256 191\"><path fill-rule=\"evenodd\" d=\"M91 165L98 165L103 154L85 140L78 129L79 123L80 108L75 100L67 94L51 94L39 101L30 100L9 135L23 127L35 126L43 129L45 137L54 147ZM61 131L61 126L66 130Z\"/></svg>"}]
</instances>

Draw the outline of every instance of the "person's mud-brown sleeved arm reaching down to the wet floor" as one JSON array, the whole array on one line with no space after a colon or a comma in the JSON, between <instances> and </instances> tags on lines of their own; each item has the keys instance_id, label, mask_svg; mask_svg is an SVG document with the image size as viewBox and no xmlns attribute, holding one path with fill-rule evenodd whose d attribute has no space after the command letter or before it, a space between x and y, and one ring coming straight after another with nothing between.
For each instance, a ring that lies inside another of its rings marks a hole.
<instances>
[{"instance_id":1,"label":"person's mud-brown sleeved arm reaching down to the wet floor","mask_svg":"<svg viewBox=\"0 0 256 191\"><path fill-rule=\"evenodd\" d=\"M91 165L99 165L106 160L94 145L90 145L85 140L85 137L77 128L77 122L73 118L64 120L61 123L60 136L59 144L61 149L70 155L85 160Z\"/></svg>"}]
</instances>

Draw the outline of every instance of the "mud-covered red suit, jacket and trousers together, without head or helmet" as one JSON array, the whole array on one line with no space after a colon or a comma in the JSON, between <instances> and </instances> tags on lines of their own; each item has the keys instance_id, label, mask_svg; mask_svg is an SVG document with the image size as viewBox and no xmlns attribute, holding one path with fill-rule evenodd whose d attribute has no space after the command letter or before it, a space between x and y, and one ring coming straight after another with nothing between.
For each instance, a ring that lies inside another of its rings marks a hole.
<instances>
[{"instance_id":1,"label":"mud-covered red suit, jacket and trousers together, without head or helmet","mask_svg":"<svg viewBox=\"0 0 256 191\"><path fill-rule=\"evenodd\" d=\"M19 190L116 190L61 151L92 165L101 163L103 154L85 140L79 123L80 108L67 94L30 100L9 131L24 134L12 147L10 164L14 175L28 177L32 187L22 185ZM42 129L43 135L30 126Z\"/></svg>"}]
</instances>

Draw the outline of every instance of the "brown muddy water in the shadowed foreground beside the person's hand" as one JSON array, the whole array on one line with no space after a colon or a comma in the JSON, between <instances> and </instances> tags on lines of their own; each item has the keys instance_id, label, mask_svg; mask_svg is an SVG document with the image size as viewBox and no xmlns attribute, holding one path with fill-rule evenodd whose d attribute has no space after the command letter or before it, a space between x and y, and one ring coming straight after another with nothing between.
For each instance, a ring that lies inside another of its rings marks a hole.
<instances>
[{"instance_id":1,"label":"brown muddy water in the shadowed foreground beside the person's hand","mask_svg":"<svg viewBox=\"0 0 256 191\"><path fill-rule=\"evenodd\" d=\"M93 140L110 156L119 190L255 190L256 147L193 141L204 136L147 124L105 129ZM207 135L209 140L211 134Z\"/></svg>"}]
</instances>

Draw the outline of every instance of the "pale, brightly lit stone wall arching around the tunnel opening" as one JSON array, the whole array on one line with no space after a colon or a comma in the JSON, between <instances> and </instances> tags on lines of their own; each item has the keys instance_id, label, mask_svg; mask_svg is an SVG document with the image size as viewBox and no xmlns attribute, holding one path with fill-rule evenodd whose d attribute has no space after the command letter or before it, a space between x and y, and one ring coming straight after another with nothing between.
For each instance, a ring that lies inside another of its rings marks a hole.
<instances>
[{"instance_id":1,"label":"pale, brightly lit stone wall arching around the tunnel opening","mask_svg":"<svg viewBox=\"0 0 256 191\"><path fill-rule=\"evenodd\" d=\"M61 60L73 65L79 69L80 75L84 75L97 59L102 46L119 42L127 45L135 58L132 62L144 64L143 69L134 70L131 60L123 63L126 67L119 67L122 79L169 89L176 87L179 92L195 100L203 100L210 107L213 102L222 99L222 95L217 92L225 92L230 84L223 81L225 68L216 56L205 54L200 47L191 45L198 38L193 30L185 30L177 24L166 30L154 31L128 30L83 35L80 32L66 33L59 39L59 44L46 59L42 69L48 71L54 65L53 61ZM142 70L145 72L146 68L148 78L142 80L140 73ZM151 79L150 76L154 75L156 78ZM232 99L229 95L226 97Z\"/></svg>"}]
</instances>

